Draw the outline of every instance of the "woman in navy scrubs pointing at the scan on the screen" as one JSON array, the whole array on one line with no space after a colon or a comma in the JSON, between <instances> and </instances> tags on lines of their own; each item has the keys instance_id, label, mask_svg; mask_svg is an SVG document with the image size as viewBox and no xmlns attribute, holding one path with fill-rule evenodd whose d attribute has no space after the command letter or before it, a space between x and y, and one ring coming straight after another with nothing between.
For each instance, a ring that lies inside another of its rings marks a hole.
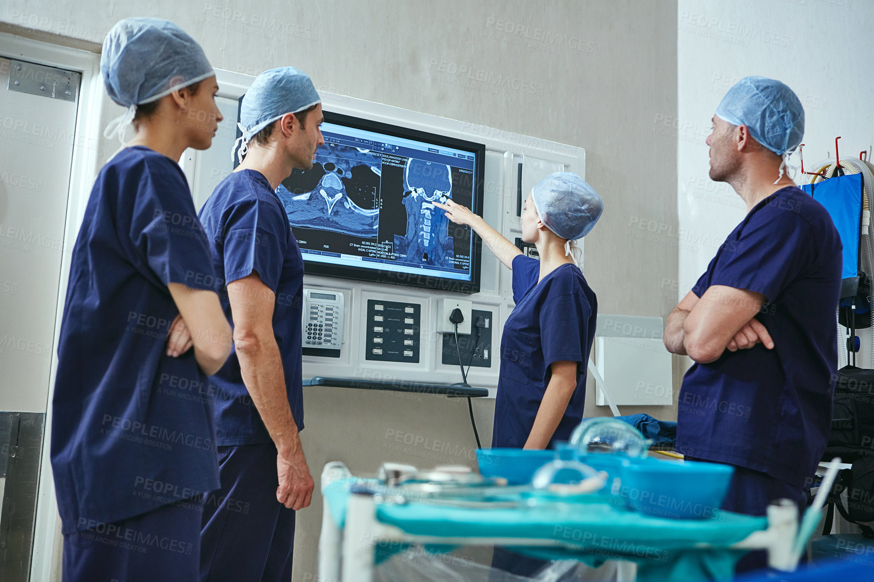
<instances>
[{"instance_id":1,"label":"woman in navy scrubs pointing at the scan on the screen","mask_svg":"<svg viewBox=\"0 0 874 582\"><path fill-rule=\"evenodd\" d=\"M598 193L572 172L555 172L531 190L522 215L522 239L540 260L524 254L461 204L434 203L458 225L469 225L513 271L516 308L501 336L501 368L492 447L543 449L567 440L583 418L586 363L598 302L577 267L575 241L600 218ZM492 565L530 575L544 563L498 548Z\"/></svg>"}]
</instances>

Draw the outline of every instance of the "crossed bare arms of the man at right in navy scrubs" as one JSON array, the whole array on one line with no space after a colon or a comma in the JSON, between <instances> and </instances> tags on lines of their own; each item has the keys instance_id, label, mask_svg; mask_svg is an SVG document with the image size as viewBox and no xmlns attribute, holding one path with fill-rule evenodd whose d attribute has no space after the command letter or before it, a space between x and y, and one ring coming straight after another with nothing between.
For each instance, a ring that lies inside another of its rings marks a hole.
<instances>
[{"instance_id":1,"label":"crossed bare arms of the man at right in navy scrubs","mask_svg":"<svg viewBox=\"0 0 874 582\"><path fill-rule=\"evenodd\" d=\"M712 285L700 298L689 292L668 315L664 346L699 364L710 364L725 350L748 350L757 343L772 350L771 336L755 318L765 301L763 294L725 285Z\"/></svg>"}]
</instances>

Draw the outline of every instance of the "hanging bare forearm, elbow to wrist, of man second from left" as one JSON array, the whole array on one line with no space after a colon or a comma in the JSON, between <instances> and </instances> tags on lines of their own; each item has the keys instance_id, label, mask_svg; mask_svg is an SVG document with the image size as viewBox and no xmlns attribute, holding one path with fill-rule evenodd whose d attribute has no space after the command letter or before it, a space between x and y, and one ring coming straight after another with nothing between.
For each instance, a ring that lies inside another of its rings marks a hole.
<instances>
[{"instance_id":1,"label":"hanging bare forearm, elbow to wrist, of man second from left","mask_svg":"<svg viewBox=\"0 0 874 582\"><path fill-rule=\"evenodd\" d=\"M260 414L267 433L283 457L296 454L301 447L297 424L288 405L288 392L279 346L273 337L262 342L237 342L239 369L246 390ZM240 349L242 348L242 350Z\"/></svg>"}]
</instances>

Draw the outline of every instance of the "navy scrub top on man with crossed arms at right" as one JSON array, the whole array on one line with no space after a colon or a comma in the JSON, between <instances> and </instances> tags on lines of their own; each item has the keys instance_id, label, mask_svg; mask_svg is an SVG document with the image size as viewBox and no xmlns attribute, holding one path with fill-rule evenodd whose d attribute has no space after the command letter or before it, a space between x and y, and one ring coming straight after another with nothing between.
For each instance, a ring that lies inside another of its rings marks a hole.
<instances>
[{"instance_id":1,"label":"navy scrub top on man with crossed arms at right","mask_svg":"<svg viewBox=\"0 0 874 582\"><path fill-rule=\"evenodd\" d=\"M677 450L809 485L831 425L841 239L822 204L774 192L725 239L692 292L712 285L765 295L756 318L773 350L725 350L683 378Z\"/></svg>"}]
</instances>

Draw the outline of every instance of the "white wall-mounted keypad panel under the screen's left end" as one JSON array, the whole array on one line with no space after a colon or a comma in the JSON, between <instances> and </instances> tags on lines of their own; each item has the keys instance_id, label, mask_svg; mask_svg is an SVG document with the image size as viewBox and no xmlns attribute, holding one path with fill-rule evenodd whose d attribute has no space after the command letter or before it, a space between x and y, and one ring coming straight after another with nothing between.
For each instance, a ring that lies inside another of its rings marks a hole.
<instances>
[{"instance_id":1,"label":"white wall-mounted keypad panel under the screen's left end","mask_svg":"<svg viewBox=\"0 0 874 582\"><path fill-rule=\"evenodd\" d=\"M343 294L325 289L303 289L303 353L340 357L343 345Z\"/></svg>"}]
</instances>

